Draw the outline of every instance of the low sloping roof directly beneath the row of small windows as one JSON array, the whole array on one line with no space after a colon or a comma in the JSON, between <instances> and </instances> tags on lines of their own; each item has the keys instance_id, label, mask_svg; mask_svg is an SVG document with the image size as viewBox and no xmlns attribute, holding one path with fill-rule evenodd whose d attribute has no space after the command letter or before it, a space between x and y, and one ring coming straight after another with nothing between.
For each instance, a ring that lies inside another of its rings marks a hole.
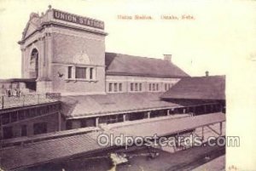
<instances>
[{"instance_id":1,"label":"low sloping roof directly beneath the row of small windows","mask_svg":"<svg viewBox=\"0 0 256 171\"><path fill-rule=\"evenodd\" d=\"M160 95L161 93L124 93L63 96L62 113L67 118L79 118L180 106L160 100Z\"/></svg>"}]
</instances>

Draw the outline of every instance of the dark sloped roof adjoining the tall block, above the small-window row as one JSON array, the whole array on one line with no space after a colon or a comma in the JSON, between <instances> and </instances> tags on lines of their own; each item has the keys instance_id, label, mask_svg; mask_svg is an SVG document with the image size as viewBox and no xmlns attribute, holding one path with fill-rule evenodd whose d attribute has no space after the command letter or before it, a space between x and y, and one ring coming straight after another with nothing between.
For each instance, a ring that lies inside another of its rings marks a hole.
<instances>
[{"instance_id":1,"label":"dark sloped roof adjoining the tall block, above the small-window row","mask_svg":"<svg viewBox=\"0 0 256 171\"><path fill-rule=\"evenodd\" d=\"M189 77L168 60L105 53L106 75L141 77Z\"/></svg>"}]
</instances>

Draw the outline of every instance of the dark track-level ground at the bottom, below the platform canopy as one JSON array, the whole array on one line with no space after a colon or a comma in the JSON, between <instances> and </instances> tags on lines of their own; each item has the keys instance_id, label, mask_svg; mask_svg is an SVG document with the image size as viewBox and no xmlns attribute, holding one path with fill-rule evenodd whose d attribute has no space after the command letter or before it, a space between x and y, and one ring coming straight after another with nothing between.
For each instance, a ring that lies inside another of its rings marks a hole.
<instances>
[{"instance_id":1,"label":"dark track-level ground at the bottom, below the platform canopy","mask_svg":"<svg viewBox=\"0 0 256 171\"><path fill-rule=\"evenodd\" d=\"M224 147L219 146L201 146L190 148L185 151L169 153L160 151L160 156L154 159L146 157L147 149L128 152L132 156L129 163L121 164L116 167L119 171L161 171L161 170L219 170L224 168ZM220 157L223 156L223 157ZM208 158L207 158L208 157ZM217 158L216 160L214 160ZM208 162L207 164L205 164ZM199 167L199 168L198 168ZM65 171L100 171L112 168L108 153L97 155L97 157L79 157L75 160L69 160L61 163L50 163L32 170L61 170Z\"/></svg>"}]
</instances>

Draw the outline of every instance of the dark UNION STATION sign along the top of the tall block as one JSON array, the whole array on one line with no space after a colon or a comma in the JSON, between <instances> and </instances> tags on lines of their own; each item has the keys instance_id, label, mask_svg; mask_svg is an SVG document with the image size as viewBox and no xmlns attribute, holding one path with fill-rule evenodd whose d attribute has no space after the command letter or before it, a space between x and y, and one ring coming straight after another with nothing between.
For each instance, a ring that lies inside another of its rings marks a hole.
<instances>
[{"instance_id":1,"label":"dark UNION STATION sign along the top of the tall block","mask_svg":"<svg viewBox=\"0 0 256 171\"><path fill-rule=\"evenodd\" d=\"M76 14L65 13L56 9L53 9L54 19L64 20L79 25L90 26L94 28L104 29L104 22L101 20L94 20L87 17L82 17Z\"/></svg>"}]
</instances>

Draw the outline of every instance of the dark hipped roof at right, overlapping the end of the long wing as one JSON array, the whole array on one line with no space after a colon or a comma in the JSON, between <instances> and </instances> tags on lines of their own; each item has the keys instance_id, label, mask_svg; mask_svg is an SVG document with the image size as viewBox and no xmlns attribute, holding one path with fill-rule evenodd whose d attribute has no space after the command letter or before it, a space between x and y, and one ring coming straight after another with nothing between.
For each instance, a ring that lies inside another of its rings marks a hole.
<instances>
[{"instance_id":1,"label":"dark hipped roof at right, overlapping the end of the long wing","mask_svg":"<svg viewBox=\"0 0 256 171\"><path fill-rule=\"evenodd\" d=\"M225 76L185 77L163 99L225 100Z\"/></svg>"}]
</instances>

